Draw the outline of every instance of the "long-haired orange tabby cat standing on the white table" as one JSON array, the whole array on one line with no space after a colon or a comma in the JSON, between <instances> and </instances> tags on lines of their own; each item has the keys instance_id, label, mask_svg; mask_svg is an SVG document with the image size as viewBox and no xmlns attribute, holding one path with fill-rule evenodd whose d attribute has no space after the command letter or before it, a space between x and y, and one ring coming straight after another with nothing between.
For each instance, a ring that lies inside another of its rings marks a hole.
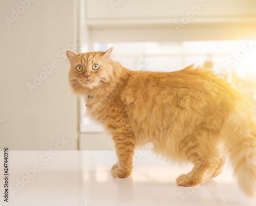
<instances>
[{"instance_id":1,"label":"long-haired orange tabby cat standing on the white table","mask_svg":"<svg viewBox=\"0 0 256 206\"><path fill-rule=\"evenodd\" d=\"M90 116L112 134L118 157L112 175L130 176L135 147L151 143L167 159L193 163L176 180L196 186L218 176L229 153L241 190L253 197L256 125L246 98L198 67L135 72L112 60L111 52L67 56L74 93L84 96Z\"/></svg>"}]
</instances>

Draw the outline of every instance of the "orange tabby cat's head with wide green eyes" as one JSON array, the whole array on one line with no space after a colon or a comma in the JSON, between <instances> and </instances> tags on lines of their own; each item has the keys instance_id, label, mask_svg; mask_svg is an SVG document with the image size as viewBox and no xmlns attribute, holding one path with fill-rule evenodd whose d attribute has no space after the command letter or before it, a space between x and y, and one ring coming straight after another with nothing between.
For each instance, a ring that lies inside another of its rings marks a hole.
<instances>
[{"instance_id":1,"label":"orange tabby cat's head with wide green eyes","mask_svg":"<svg viewBox=\"0 0 256 206\"><path fill-rule=\"evenodd\" d=\"M112 49L78 55L67 51L71 64L69 82L75 93L81 95L87 89L104 87L106 83L113 82L113 64L110 59Z\"/></svg>"}]
</instances>

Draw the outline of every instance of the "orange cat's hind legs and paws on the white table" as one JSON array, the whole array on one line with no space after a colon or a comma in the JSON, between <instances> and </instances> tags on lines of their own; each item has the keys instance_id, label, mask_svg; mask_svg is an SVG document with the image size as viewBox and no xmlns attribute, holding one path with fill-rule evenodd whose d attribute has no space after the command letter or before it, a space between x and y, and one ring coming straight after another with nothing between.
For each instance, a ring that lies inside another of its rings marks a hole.
<instances>
[{"instance_id":1,"label":"orange cat's hind legs and paws on the white table","mask_svg":"<svg viewBox=\"0 0 256 206\"><path fill-rule=\"evenodd\" d=\"M180 151L194 164L194 168L176 179L178 186L196 186L221 172L224 161L219 157L220 151L215 146L215 140L215 133L198 130L180 142Z\"/></svg>"}]
</instances>

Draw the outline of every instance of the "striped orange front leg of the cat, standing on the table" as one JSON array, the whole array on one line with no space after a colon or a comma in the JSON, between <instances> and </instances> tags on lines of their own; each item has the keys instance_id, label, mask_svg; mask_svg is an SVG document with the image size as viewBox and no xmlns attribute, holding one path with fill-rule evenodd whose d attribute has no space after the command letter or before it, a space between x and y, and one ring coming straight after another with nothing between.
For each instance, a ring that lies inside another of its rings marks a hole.
<instances>
[{"instance_id":1,"label":"striped orange front leg of the cat, standing on the table","mask_svg":"<svg viewBox=\"0 0 256 206\"><path fill-rule=\"evenodd\" d=\"M113 137L118 161L113 165L111 174L115 178L129 177L133 169L133 154L135 149L134 136L119 133Z\"/></svg>"}]
</instances>

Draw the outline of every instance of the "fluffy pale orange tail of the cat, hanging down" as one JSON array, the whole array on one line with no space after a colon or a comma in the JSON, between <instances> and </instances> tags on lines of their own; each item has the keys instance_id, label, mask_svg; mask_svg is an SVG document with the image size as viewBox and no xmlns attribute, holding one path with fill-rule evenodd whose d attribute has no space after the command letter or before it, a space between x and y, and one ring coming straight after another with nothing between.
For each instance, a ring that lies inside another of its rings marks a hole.
<instances>
[{"instance_id":1,"label":"fluffy pale orange tail of the cat, hanging down","mask_svg":"<svg viewBox=\"0 0 256 206\"><path fill-rule=\"evenodd\" d=\"M256 197L256 125L251 113L229 118L225 125L226 147L234 167L234 176L244 194ZM231 135L230 135L231 134Z\"/></svg>"}]
</instances>

